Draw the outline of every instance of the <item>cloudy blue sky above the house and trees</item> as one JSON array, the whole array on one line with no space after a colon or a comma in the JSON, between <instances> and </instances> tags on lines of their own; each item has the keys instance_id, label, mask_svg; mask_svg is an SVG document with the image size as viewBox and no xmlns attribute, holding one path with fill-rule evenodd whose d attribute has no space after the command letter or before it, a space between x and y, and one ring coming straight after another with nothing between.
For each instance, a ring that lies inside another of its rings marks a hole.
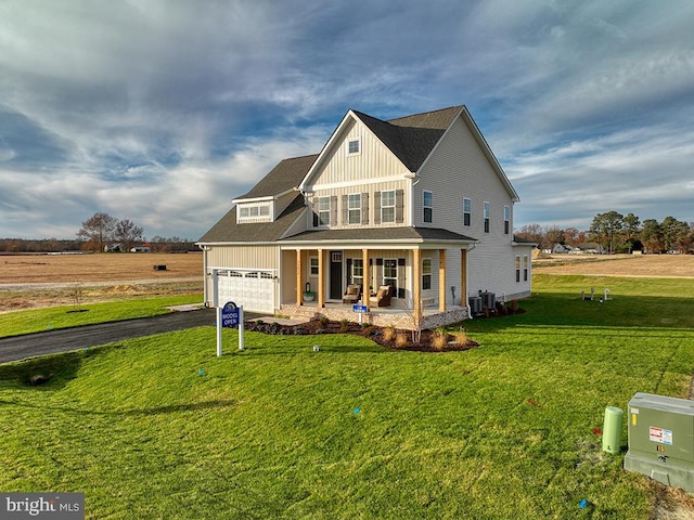
<instances>
[{"instance_id":1,"label":"cloudy blue sky above the house and trees","mask_svg":"<svg viewBox=\"0 0 694 520\"><path fill-rule=\"evenodd\" d=\"M349 108L465 104L514 224L694 221L694 2L0 0L0 237L197 239Z\"/></svg>"}]
</instances>

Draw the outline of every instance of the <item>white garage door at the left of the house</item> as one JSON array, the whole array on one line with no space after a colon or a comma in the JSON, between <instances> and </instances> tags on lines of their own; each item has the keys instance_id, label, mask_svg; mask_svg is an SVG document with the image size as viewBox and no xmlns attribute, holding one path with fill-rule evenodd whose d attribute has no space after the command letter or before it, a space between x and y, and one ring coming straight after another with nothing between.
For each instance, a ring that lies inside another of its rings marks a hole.
<instances>
[{"instance_id":1,"label":"white garage door at the left of the house","mask_svg":"<svg viewBox=\"0 0 694 520\"><path fill-rule=\"evenodd\" d=\"M274 314L274 271L216 269L216 304L223 307L228 301L243 307L244 311Z\"/></svg>"}]
</instances>

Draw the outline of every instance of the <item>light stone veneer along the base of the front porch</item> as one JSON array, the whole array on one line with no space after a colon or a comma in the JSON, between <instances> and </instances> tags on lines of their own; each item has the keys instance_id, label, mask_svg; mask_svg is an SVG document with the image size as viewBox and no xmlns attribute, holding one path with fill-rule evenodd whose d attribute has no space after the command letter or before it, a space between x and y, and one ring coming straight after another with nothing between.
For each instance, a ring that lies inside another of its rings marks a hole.
<instances>
[{"instance_id":1,"label":"light stone veneer along the base of the front porch","mask_svg":"<svg viewBox=\"0 0 694 520\"><path fill-rule=\"evenodd\" d=\"M347 309L319 309L316 307L282 306L280 314L287 315L292 320L311 320L325 316L334 322L340 322L343 320L355 323L359 322L359 314ZM453 323L467 320L468 317L467 308L458 307L449 309L446 312L437 312L435 314L422 316L422 329L432 329L442 327L445 325L451 325ZM377 325L380 327L394 326L403 330L413 330L416 328L412 315L406 312L398 312L396 314L372 311L368 314L364 313L362 321L363 323Z\"/></svg>"}]
</instances>

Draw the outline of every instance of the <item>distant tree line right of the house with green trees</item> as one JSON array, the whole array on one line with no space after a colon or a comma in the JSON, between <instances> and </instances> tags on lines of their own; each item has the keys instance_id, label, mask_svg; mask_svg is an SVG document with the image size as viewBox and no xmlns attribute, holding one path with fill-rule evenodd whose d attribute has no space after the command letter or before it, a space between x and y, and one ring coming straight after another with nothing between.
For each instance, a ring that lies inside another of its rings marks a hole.
<instances>
[{"instance_id":1,"label":"distant tree line right of the house with green trees","mask_svg":"<svg viewBox=\"0 0 694 520\"><path fill-rule=\"evenodd\" d=\"M666 217L658 222L645 219L643 222L633 213L626 216L618 211L606 211L593 217L590 227L542 227L529 224L520 227L516 236L529 239L541 249L552 249L555 244L578 247L584 243L597 243L608 253L643 251L648 253L692 252L694 250L694 222L684 222L674 217Z\"/></svg>"}]
</instances>

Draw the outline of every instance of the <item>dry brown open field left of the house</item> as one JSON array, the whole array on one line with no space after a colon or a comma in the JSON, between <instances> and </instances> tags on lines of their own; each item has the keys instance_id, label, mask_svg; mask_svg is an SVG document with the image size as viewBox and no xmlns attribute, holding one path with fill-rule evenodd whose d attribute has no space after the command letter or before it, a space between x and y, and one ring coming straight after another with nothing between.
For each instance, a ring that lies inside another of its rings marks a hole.
<instances>
[{"instance_id":1,"label":"dry brown open field left of the house","mask_svg":"<svg viewBox=\"0 0 694 520\"><path fill-rule=\"evenodd\" d=\"M0 313L202 291L200 252L0 256Z\"/></svg>"}]
</instances>

